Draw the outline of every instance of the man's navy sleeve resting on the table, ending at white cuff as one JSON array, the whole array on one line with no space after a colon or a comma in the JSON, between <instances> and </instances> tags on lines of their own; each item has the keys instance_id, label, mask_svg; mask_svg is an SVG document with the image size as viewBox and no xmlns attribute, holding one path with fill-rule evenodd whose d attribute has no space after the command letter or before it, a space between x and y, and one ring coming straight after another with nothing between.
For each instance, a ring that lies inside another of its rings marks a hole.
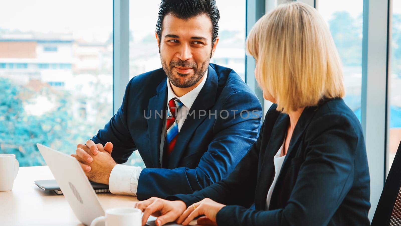
<instances>
[{"instance_id":1,"label":"man's navy sleeve resting on the table, ending at white cuff","mask_svg":"<svg viewBox=\"0 0 401 226\"><path fill-rule=\"evenodd\" d=\"M231 112L231 115L226 119L216 119L214 138L198 166L193 169L144 168L138 180L138 199L193 193L220 181L233 171L257 138L261 105L251 92L239 91L227 97L222 109ZM233 109L247 110L250 115L240 117L240 112L233 113ZM252 115L252 112L255 114Z\"/></svg>"}]
</instances>

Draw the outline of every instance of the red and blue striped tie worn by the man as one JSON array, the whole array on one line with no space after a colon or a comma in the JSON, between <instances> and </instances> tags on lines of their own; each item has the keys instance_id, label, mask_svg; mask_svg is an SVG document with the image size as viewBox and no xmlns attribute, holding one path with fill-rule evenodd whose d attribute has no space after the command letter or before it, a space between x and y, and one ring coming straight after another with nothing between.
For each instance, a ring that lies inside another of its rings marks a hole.
<instances>
[{"instance_id":1,"label":"red and blue striped tie worn by the man","mask_svg":"<svg viewBox=\"0 0 401 226\"><path fill-rule=\"evenodd\" d=\"M167 141L167 154L170 156L171 152L174 149L177 136L178 136L178 124L176 120L177 111L184 105L181 101L177 100L178 107L175 103L177 98L174 97L168 102L168 117L167 117L167 125L166 125L166 141Z\"/></svg>"}]
</instances>

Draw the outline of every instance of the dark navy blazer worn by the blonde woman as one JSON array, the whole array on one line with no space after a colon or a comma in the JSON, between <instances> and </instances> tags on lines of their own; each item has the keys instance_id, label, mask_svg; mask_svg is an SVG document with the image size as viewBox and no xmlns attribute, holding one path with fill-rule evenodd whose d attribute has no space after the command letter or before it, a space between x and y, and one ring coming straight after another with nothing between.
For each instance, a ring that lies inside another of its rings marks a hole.
<instances>
[{"instance_id":1,"label":"dark navy blazer worn by the blonde woman","mask_svg":"<svg viewBox=\"0 0 401 226\"><path fill-rule=\"evenodd\" d=\"M370 179L362 128L342 99L302 112L284 164L264 210L275 170L273 157L284 142L290 119L273 105L259 138L221 182L191 195L174 195L186 205L209 197L227 206L218 225L370 225ZM255 208L249 208L252 204Z\"/></svg>"}]
</instances>

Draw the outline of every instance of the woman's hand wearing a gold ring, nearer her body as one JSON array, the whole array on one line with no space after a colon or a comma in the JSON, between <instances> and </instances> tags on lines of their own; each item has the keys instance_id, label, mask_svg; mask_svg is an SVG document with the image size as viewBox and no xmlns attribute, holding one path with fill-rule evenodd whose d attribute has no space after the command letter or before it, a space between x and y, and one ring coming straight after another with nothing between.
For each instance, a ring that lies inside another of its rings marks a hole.
<instances>
[{"instance_id":1,"label":"woman's hand wearing a gold ring, nearer her body","mask_svg":"<svg viewBox=\"0 0 401 226\"><path fill-rule=\"evenodd\" d=\"M200 202L188 206L185 212L178 218L177 223L187 225L197 216L205 215L205 217L198 219L198 224L217 225L216 215L223 207L225 207L225 205L215 202L212 199L203 199Z\"/></svg>"}]
</instances>

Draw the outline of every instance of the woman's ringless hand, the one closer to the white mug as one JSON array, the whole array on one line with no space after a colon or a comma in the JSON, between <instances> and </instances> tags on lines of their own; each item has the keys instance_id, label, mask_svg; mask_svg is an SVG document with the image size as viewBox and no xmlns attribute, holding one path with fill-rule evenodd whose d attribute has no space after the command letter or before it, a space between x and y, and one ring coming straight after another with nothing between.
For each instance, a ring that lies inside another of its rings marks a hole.
<instances>
[{"instance_id":1,"label":"woman's ringless hand, the one closer to the white mug","mask_svg":"<svg viewBox=\"0 0 401 226\"><path fill-rule=\"evenodd\" d=\"M156 225L161 226L168 222L175 221L186 209L183 201L168 201L152 197L150 199L135 203L134 208L138 208L144 212L142 216L142 226L146 224L150 215L158 217Z\"/></svg>"}]
</instances>

